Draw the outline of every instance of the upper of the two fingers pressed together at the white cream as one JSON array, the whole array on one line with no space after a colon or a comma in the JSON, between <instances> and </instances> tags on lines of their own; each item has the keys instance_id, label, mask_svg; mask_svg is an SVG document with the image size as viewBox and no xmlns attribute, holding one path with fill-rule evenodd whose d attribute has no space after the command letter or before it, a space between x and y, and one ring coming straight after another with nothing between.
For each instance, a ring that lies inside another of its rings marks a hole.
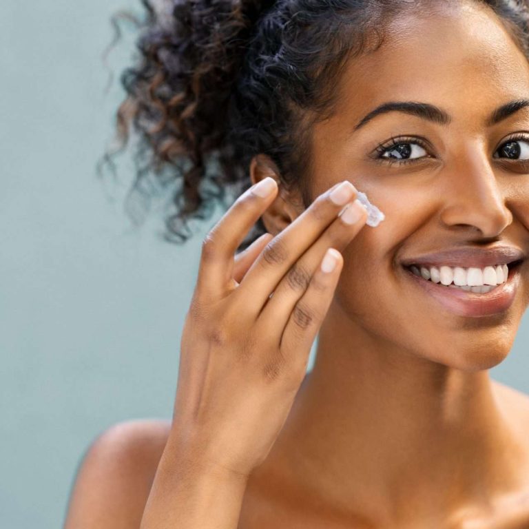
<instances>
[{"instance_id":1,"label":"upper of the two fingers pressed together at the white cream","mask_svg":"<svg viewBox=\"0 0 529 529\"><path fill-rule=\"evenodd\" d=\"M255 317L262 311L284 274L337 218L344 205L356 197L357 191L350 182L341 184L343 187L336 185L318 196L298 218L264 247L247 271L238 287L238 295L251 300L247 309ZM342 200L334 201L338 191L346 192L342 195Z\"/></svg>"}]
</instances>

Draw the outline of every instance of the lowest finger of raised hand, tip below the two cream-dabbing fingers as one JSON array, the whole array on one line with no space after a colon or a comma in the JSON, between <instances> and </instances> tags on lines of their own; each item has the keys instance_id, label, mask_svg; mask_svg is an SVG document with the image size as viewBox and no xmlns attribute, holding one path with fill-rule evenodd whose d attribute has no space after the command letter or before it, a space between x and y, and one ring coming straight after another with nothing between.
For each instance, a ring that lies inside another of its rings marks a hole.
<instances>
[{"instance_id":1,"label":"lowest finger of raised hand, tip below the two cream-dabbing fingers","mask_svg":"<svg viewBox=\"0 0 529 529\"><path fill-rule=\"evenodd\" d=\"M320 267L312 276L307 291L295 304L287 325L284 327L280 342L280 350L283 355L291 358L292 361L296 360L293 355L299 351L310 351L331 305L343 263L342 254L338 250L330 248L322 259ZM307 358L305 356L308 356L308 353L300 357L299 360L305 362L306 365Z\"/></svg>"}]
</instances>

